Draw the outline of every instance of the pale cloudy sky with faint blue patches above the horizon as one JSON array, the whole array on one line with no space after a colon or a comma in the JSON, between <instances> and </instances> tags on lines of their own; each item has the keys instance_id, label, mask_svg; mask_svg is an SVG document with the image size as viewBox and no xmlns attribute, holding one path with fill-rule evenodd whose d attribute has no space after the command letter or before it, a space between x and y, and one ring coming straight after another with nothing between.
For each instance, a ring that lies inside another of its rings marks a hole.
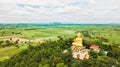
<instances>
[{"instance_id":1,"label":"pale cloudy sky with faint blue patches above the horizon","mask_svg":"<svg viewBox=\"0 0 120 67\"><path fill-rule=\"evenodd\" d=\"M120 23L120 0L0 0L0 23Z\"/></svg>"}]
</instances>

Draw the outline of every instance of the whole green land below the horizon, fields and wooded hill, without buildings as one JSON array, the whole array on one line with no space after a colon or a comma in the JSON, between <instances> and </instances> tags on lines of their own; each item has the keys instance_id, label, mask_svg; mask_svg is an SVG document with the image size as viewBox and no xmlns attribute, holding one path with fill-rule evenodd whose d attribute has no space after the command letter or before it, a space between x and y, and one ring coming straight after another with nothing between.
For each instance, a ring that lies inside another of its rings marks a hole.
<instances>
[{"instance_id":1,"label":"whole green land below the horizon, fields and wooded hill, without buildings","mask_svg":"<svg viewBox=\"0 0 120 67\"><path fill-rule=\"evenodd\" d=\"M70 47L78 33L89 59L72 57ZM0 67L88 66L120 67L119 24L0 24Z\"/></svg>"}]
</instances>

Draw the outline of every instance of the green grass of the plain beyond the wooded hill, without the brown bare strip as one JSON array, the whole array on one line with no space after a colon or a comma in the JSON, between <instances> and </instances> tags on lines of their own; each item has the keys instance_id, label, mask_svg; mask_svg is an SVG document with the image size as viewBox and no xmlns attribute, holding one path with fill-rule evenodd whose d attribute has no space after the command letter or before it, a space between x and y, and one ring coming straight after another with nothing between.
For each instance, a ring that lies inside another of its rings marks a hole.
<instances>
[{"instance_id":1,"label":"green grass of the plain beyond the wooded hill, without the brown bare strip","mask_svg":"<svg viewBox=\"0 0 120 67\"><path fill-rule=\"evenodd\" d=\"M77 25L77 26L17 26L6 25L0 26L0 39L7 38L23 38L28 40L57 40L58 36L70 38L76 36L80 32L83 38L96 39L97 37L103 37L108 39L107 44L120 44L120 26L112 25ZM0 61L8 59L12 55L20 52L22 49L26 49L28 45L19 44L20 48L15 46L0 48Z\"/></svg>"}]
</instances>

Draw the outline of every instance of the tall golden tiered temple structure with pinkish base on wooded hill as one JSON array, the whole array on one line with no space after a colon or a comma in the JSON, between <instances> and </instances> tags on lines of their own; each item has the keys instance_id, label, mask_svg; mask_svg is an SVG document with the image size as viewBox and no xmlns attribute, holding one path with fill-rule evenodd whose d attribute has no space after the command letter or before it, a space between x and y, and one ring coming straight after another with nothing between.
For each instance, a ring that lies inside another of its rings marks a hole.
<instances>
[{"instance_id":1,"label":"tall golden tiered temple structure with pinkish base on wooded hill","mask_svg":"<svg viewBox=\"0 0 120 67\"><path fill-rule=\"evenodd\" d=\"M79 58L81 60L89 58L88 49L83 46L82 42L81 34L78 33L77 38L74 39L71 46L73 58Z\"/></svg>"}]
</instances>

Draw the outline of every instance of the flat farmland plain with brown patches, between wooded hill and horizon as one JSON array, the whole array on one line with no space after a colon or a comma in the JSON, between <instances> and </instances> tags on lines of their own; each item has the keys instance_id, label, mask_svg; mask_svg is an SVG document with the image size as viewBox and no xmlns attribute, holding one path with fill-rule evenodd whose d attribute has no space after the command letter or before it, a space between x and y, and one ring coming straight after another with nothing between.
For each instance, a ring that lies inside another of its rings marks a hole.
<instances>
[{"instance_id":1,"label":"flat farmland plain with brown patches, between wooded hill and horizon","mask_svg":"<svg viewBox=\"0 0 120 67\"><path fill-rule=\"evenodd\" d=\"M29 44L38 45L46 40L58 40L59 37L75 37L77 33L81 33L83 39L86 40L99 40L102 44L120 45L120 25L1 24L0 61L27 49Z\"/></svg>"}]
</instances>

